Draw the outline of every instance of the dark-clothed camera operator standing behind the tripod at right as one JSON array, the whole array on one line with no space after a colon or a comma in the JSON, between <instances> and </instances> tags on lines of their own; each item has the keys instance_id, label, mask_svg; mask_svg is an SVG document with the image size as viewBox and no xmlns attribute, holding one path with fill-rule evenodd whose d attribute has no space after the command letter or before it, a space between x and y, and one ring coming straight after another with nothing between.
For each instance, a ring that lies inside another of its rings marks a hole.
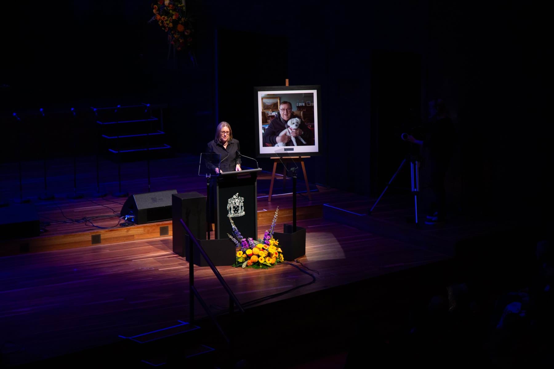
<instances>
[{"instance_id":1,"label":"dark-clothed camera operator standing behind the tripod at right","mask_svg":"<svg viewBox=\"0 0 554 369\"><path fill-rule=\"evenodd\" d=\"M455 130L444 101L440 98L429 102L429 124L422 137L407 135L406 140L420 145L423 163L427 172L427 184L433 192L434 201L427 209L425 224L437 224L445 220L446 178L453 154Z\"/></svg>"}]
</instances>

